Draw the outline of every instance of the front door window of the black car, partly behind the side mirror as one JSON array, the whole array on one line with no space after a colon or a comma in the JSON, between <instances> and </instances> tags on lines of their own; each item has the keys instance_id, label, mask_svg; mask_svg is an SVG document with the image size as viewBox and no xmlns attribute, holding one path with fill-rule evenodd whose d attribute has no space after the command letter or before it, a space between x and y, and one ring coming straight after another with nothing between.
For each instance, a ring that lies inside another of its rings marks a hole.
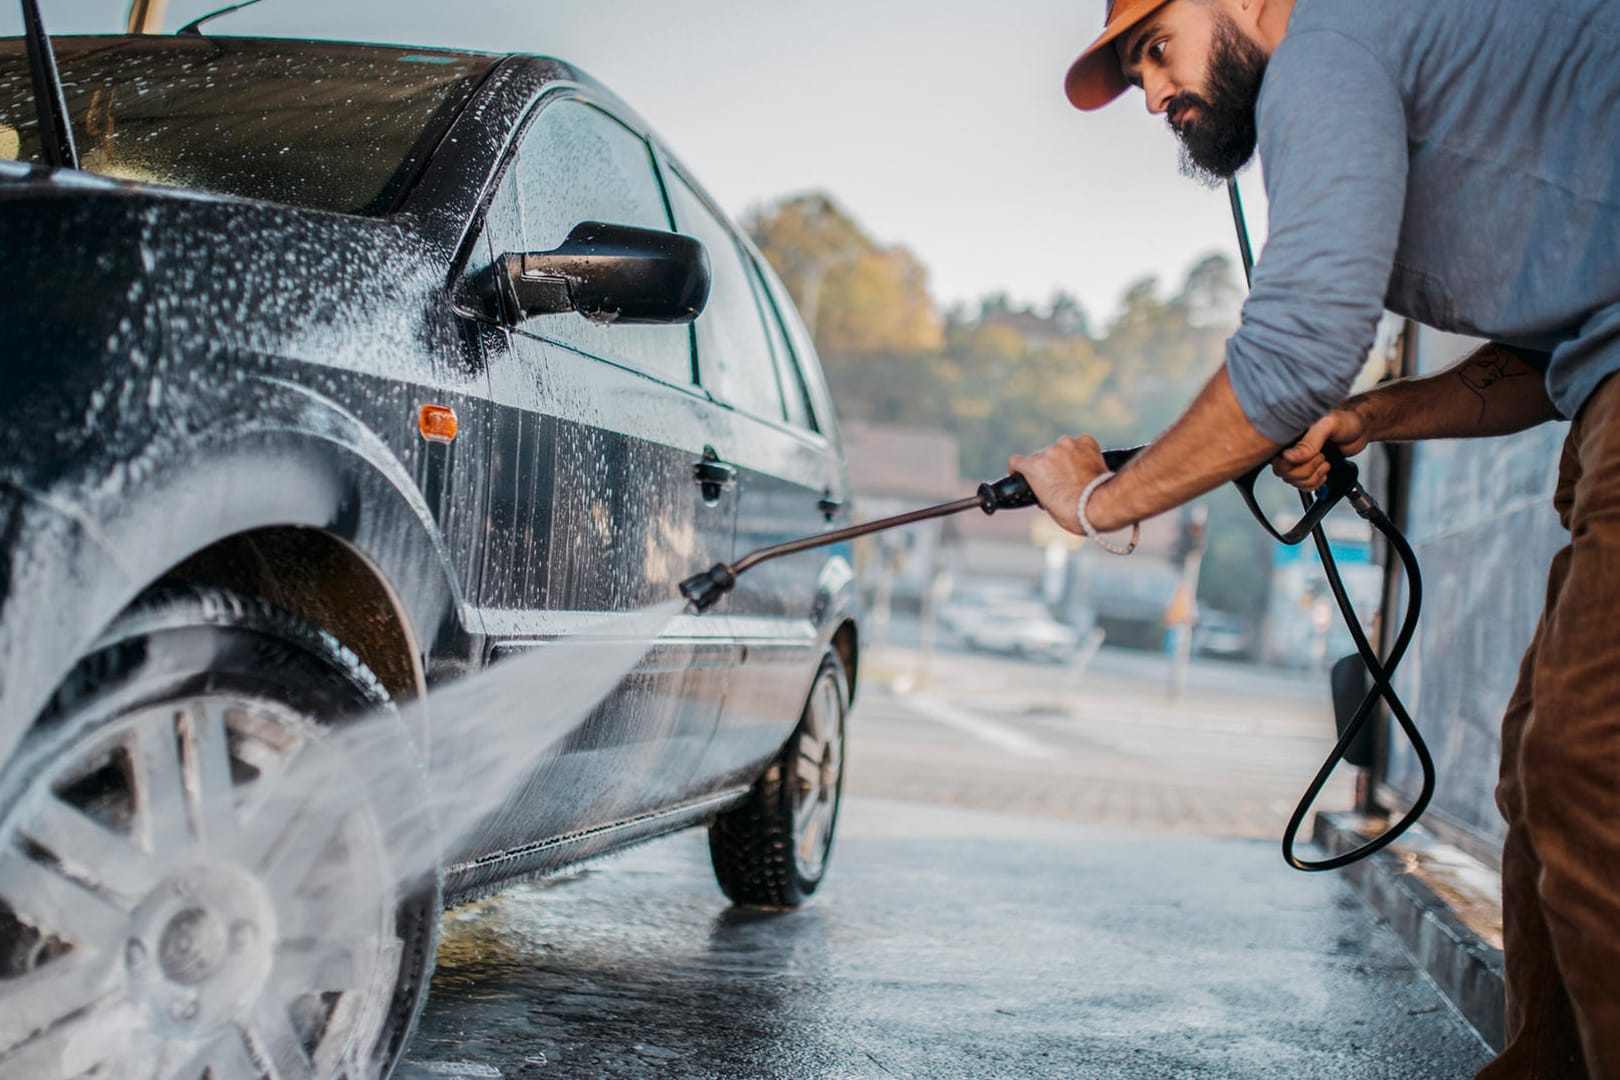
<instances>
[{"instance_id":1,"label":"front door window of the black car, partly behind the side mirror","mask_svg":"<svg viewBox=\"0 0 1620 1080\"><path fill-rule=\"evenodd\" d=\"M488 220L496 254L552 251L580 222L671 228L646 141L578 100L556 102L535 118ZM599 325L569 313L536 316L518 329L666 382L692 382L685 325Z\"/></svg>"}]
</instances>

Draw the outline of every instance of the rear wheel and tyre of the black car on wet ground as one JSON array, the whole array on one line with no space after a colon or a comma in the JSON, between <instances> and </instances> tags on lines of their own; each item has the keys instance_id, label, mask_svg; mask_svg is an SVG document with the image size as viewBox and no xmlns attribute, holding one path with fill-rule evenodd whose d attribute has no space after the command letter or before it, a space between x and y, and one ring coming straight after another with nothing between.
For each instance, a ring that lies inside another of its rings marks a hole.
<instances>
[{"instance_id":1,"label":"rear wheel and tyre of the black car on wet ground","mask_svg":"<svg viewBox=\"0 0 1620 1080\"><path fill-rule=\"evenodd\" d=\"M742 907L794 908L826 874L844 790L849 680L826 656L792 737L747 800L710 826L721 891Z\"/></svg>"}]
</instances>

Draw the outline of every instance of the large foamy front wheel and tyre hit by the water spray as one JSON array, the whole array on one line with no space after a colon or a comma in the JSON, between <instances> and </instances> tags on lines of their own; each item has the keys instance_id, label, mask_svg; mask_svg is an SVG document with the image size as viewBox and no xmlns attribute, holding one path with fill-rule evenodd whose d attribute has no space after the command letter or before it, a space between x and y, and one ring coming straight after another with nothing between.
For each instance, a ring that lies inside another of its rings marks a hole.
<instances>
[{"instance_id":1,"label":"large foamy front wheel and tyre hit by the water spray","mask_svg":"<svg viewBox=\"0 0 1620 1080\"><path fill-rule=\"evenodd\" d=\"M368 776L423 805L330 635L206 588L120 617L0 769L0 1075L387 1075L442 887L334 738L361 714Z\"/></svg>"}]
</instances>

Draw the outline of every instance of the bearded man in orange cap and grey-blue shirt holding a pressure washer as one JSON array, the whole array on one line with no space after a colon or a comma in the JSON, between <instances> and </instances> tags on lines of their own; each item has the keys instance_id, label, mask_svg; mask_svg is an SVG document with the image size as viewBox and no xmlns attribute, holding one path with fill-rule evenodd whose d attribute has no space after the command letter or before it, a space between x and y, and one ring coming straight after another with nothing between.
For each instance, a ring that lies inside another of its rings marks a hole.
<instances>
[{"instance_id":1,"label":"bearded man in orange cap and grey-blue shirt holding a pressure washer","mask_svg":"<svg viewBox=\"0 0 1620 1080\"><path fill-rule=\"evenodd\" d=\"M1481 1077L1620 1080L1620 5L1111 0L1066 87L1128 86L1192 176L1259 149L1270 236L1225 366L1149 450L1113 478L1090 437L1009 465L1126 552L1103 534L1265 461L1319 486L1327 440L1573 419L1571 542L1502 729L1508 1046ZM1345 400L1385 308L1492 345Z\"/></svg>"}]
</instances>

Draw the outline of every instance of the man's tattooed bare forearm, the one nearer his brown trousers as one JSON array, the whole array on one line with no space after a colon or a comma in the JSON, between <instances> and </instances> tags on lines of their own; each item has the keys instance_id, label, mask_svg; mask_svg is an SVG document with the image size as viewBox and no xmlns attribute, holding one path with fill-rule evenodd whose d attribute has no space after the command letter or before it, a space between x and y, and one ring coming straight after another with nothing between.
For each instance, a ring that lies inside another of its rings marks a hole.
<instances>
[{"instance_id":1,"label":"man's tattooed bare forearm, the one nearer his brown trousers","mask_svg":"<svg viewBox=\"0 0 1620 1080\"><path fill-rule=\"evenodd\" d=\"M1542 374L1498 345L1439 374L1359 393L1345 408L1361 416L1374 442L1508 436L1558 419Z\"/></svg>"}]
</instances>

